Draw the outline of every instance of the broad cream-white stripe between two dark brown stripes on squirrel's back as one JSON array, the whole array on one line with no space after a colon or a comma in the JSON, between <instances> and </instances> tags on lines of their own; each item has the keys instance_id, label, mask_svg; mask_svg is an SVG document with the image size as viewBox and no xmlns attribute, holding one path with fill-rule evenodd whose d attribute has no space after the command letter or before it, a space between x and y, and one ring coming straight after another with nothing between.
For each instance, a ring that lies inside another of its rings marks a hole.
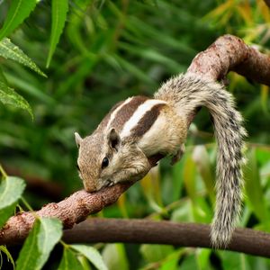
<instances>
[{"instance_id":1,"label":"broad cream-white stripe between two dark brown stripes on squirrel's back","mask_svg":"<svg viewBox=\"0 0 270 270\"><path fill-rule=\"evenodd\" d=\"M140 104L138 109L130 117L130 120L124 124L123 129L121 130L121 138L130 135L130 130L136 127L139 120L143 117L143 115L146 112L150 111L157 104L165 104L165 103L166 103L165 101L157 99L148 99L144 103Z\"/></svg>"}]
</instances>

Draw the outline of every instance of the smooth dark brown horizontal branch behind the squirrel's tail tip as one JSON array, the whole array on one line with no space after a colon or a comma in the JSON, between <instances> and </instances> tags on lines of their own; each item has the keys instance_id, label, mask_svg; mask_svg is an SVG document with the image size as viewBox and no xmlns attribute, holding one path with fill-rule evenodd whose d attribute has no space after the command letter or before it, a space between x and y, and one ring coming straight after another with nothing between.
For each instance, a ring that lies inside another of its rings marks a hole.
<instances>
[{"instance_id":1,"label":"smooth dark brown horizontal branch behind the squirrel's tail tip","mask_svg":"<svg viewBox=\"0 0 270 270\"><path fill-rule=\"evenodd\" d=\"M209 225L172 221L92 218L67 229L63 239L67 243L122 242L212 248ZM226 249L270 257L270 234L236 229Z\"/></svg>"}]
</instances>

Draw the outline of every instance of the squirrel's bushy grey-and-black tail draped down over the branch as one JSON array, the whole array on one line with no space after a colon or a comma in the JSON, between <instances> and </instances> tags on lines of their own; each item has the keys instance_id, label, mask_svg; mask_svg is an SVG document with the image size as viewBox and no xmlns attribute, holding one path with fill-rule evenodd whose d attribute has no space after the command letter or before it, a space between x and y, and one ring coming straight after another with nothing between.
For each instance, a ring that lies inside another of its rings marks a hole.
<instances>
[{"instance_id":1,"label":"squirrel's bushy grey-and-black tail draped down over the branch","mask_svg":"<svg viewBox=\"0 0 270 270\"><path fill-rule=\"evenodd\" d=\"M176 112L186 119L199 106L205 106L211 112L218 142L217 200L211 225L211 243L213 247L224 247L229 244L241 210L242 148L243 137L246 136L233 97L216 82L186 74L168 80L157 91L155 98L171 103Z\"/></svg>"}]
</instances>

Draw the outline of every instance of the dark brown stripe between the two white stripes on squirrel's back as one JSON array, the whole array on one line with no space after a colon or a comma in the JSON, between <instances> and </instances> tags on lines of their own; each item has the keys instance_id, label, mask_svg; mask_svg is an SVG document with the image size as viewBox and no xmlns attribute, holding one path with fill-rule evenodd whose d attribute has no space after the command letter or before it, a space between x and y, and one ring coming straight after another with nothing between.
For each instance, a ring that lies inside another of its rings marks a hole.
<instances>
[{"instance_id":1,"label":"dark brown stripe between the two white stripes on squirrel's back","mask_svg":"<svg viewBox=\"0 0 270 270\"><path fill-rule=\"evenodd\" d=\"M126 103L121 107L121 110L116 113L114 119L111 122L111 127L121 131L124 124L129 121L130 117L135 111L137 111L139 105L148 100L146 96L134 96L129 103Z\"/></svg>"}]
</instances>

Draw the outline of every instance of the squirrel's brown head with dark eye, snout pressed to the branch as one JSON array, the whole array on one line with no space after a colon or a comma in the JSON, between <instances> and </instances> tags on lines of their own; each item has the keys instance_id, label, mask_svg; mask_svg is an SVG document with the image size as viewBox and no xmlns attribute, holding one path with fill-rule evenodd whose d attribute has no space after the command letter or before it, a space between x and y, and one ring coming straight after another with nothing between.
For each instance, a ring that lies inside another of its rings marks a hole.
<instances>
[{"instance_id":1,"label":"squirrel's brown head with dark eye, snout pressed to the branch","mask_svg":"<svg viewBox=\"0 0 270 270\"><path fill-rule=\"evenodd\" d=\"M114 128L94 132L82 139L75 133L79 148L77 168L87 192L98 191L122 181L139 180L150 169L148 159L130 140L121 140Z\"/></svg>"}]
</instances>

